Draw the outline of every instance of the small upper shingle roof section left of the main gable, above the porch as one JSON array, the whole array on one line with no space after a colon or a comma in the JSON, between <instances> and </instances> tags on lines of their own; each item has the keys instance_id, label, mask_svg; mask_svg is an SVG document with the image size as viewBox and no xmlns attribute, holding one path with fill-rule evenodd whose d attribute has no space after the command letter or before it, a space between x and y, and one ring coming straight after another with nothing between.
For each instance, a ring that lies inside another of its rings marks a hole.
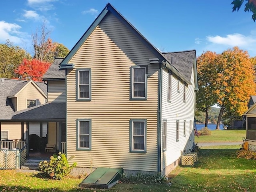
<instances>
[{"instance_id":1,"label":"small upper shingle roof section left of the main gable, above the porch","mask_svg":"<svg viewBox=\"0 0 256 192\"><path fill-rule=\"evenodd\" d=\"M48 79L65 79L65 70L60 70L59 64L64 58L55 58L54 62L51 64L50 68L43 76L43 80Z\"/></svg>"}]
</instances>

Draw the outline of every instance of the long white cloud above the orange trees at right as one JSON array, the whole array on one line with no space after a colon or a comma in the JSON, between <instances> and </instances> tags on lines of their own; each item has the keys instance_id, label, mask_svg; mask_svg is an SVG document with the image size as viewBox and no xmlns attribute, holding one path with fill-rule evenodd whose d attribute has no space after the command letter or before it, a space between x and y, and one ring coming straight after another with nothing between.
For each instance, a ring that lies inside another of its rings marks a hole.
<instances>
[{"instance_id":1,"label":"long white cloud above the orange trees at right","mask_svg":"<svg viewBox=\"0 0 256 192\"><path fill-rule=\"evenodd\" d=\"M247 46L256 41L256 38L251 36L244 36L242 34L228 34L226 37L221 36L207 36L206 39L214 44L228 45L228 46Z\"/></svg>"}]
</instances>

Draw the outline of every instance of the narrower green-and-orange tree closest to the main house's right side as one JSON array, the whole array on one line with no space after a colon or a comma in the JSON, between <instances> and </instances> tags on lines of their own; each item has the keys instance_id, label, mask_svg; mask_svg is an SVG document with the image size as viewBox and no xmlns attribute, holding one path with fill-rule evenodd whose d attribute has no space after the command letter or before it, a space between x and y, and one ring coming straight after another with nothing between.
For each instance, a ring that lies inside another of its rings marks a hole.
<instances>
[{"instance_id":1,"label":"narrower green-and-orange tree closest to the main house's right side","mask_svg":"<svg viewBox=\"0 0 256 192\"><path fill-rule=\"evenodd\" d=\"M208 113L211 106L217 102L214 92L214 83L216 76L216 58L215 52L207 51L201 54L197 59L198 86L196 94L196 108L205 112L205 127L208 126Z\"/></svg>"}]
</instances>

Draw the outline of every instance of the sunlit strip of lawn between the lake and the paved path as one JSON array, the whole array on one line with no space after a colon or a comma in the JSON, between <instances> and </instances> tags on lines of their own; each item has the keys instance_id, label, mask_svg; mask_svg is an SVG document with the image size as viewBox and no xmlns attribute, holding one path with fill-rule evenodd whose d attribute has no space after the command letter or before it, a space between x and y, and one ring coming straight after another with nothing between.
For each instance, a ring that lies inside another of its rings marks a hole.
<instances>
[{"instance_id":1,"label":"sunlit strip of lawn between the lake and the paved path","mask_svg":"<svg viewBox=\"0 0 256 192\"><path fill-rule=\"evenodd\" d=\"M242 137L246 136L246 130L212 130L211 135L195 137L195 143L209 142L243 142Z\"/></svg>"}]
</instances>

